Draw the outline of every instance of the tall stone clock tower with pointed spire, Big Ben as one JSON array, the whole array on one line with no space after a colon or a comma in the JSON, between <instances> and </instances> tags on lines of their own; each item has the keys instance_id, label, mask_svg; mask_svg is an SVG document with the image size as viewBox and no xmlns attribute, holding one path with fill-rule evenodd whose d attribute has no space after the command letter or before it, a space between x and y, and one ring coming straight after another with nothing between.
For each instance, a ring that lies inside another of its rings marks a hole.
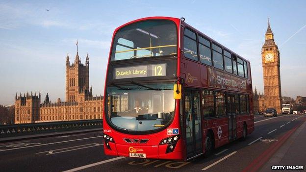
<instances>
[{"instance_id":1,"label":"tall stone clock tower with pointed spire, Big Ben","mask_svg":"<svg viewBox=\"0 0 306 172\"><path fill-rule=\"evenodd\" d=\"M268 20L268 28L265 34L265 43L261 50L264 104L265 108L275 108L281 113L280 90L280 51L274 42L274 35Z\"/></svg>"}]
</instances>

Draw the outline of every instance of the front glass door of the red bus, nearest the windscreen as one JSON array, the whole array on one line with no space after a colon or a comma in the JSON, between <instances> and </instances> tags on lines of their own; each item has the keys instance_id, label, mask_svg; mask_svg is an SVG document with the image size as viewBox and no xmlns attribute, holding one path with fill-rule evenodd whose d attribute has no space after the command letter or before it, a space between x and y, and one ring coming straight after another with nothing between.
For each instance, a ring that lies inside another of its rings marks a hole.
<instances>
[{"instance_id":1,"label":"front glass door of the red bus, nearest the windscreen","mask_svg":"<svg viewBox=\"0 0 306 172\"><path fill-rule=\"evenodd\" d=\"M185 90L184 112L186 123L186 159L188 159L203 152L199 90Z\"/></svg>"}]
</instances>

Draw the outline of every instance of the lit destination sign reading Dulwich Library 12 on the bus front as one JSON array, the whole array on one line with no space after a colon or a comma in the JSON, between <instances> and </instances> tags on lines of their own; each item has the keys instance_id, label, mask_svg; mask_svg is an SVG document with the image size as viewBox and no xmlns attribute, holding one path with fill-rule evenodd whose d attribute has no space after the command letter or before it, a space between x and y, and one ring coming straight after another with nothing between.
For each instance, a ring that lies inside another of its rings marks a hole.
<instances>
[{"instance_id":1,"label":"lit destination sign reading Dulwich Library 12 on the bus front","mask_svg":"<svg viewBox=\"0 0 306 172\"><path fill-rule=\"evenodd\" d=\"M166 63L114 68L113 78L124 79L147 76L166 76L166 68Z\"/></svg>"}]
</instances>

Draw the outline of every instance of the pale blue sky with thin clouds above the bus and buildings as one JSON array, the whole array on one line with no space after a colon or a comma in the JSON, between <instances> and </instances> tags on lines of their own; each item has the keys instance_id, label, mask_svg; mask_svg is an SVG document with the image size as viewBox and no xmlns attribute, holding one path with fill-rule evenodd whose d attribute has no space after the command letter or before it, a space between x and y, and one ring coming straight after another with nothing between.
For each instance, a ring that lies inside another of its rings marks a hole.
<instances>
[{"instance_id":1,"label":"pale blue sky with thin clouds above the bus and buildings","mask_svg":"<svg viewBox=\"0 0 306 172\"><path fill-rule=\"evenodd\" d=\"M50 9L47 11L46 9ZM0 104L15 93L65 98L65 60L90 61L93 94L103 93L113 31L149 16L186 22L251 62L253 86L263 92L261 47L267 17L280 49L282 96L306 96L305 0L0 0Z\"/></svg>"}]
</instances>

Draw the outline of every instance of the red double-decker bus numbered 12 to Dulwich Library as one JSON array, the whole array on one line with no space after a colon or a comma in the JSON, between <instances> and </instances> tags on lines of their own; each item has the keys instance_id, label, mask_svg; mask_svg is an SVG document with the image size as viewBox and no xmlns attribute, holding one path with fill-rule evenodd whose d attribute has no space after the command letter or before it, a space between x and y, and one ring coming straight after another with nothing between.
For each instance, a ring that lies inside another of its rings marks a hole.
<instances>
[{"instance_id":1,"label":"red double-decker bus numbered 12 to Dulwich Library","mask_svg":"<svg viewBox=\"0 0 306 172\"><path fill-rule=\"evenodd\" d=\"M250 62L184 18L114 31L104 103L107 155L189 160L254 131Z\"/></svg>"}]
</instances>

